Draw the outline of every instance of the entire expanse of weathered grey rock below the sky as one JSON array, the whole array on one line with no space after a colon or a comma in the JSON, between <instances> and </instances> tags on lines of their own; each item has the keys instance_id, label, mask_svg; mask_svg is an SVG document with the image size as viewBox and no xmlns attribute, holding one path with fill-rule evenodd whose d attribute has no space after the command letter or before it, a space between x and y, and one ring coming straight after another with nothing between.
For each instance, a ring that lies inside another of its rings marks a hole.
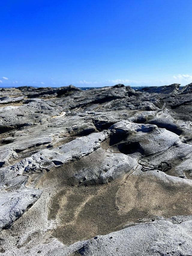
<instances>
[{"instance_id":1,"label":"entire expanse of weathered grey rock below the sky","mask_svg":"<svg viewBox=\"0 0 192 256\"><path fill-rule=\"evenodd\" d=\"M192 255L191 88L1 88L0 255Z\"/></svg>"}]
</instances>

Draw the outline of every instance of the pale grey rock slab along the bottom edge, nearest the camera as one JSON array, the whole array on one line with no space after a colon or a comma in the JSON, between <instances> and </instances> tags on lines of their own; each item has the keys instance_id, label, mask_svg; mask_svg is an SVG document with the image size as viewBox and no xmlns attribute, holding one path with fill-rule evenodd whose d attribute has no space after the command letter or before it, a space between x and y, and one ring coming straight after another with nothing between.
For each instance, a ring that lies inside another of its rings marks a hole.
<instances>
[{"instance_id":1,"label":"pale grey rock slab along the bottom edge, nearest the camera","mask_svg":"<svg viewBox=\"0 0 192 256\"><path fill-rule=\"evenodd\" d=\"M141 223L106 236L95 236L73 255L191 255L192 221Z\"/></svg>"}]
</instances>

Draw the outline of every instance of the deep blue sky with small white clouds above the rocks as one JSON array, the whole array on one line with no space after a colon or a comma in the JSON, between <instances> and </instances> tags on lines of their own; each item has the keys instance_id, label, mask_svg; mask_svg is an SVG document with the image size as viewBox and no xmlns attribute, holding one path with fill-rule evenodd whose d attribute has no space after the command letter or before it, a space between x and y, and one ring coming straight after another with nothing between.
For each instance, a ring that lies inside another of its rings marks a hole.
<instances>
[{"instance_id":1,"label":"deep blue sky with small white clouds above the rocks","mask_svg":"<svg viewBox=\"0 0 192 256\"><path fill-rule=\"evenodd\" d=\"M0 86L192 82L191 0L1 0Z\"/></svg>"}]
</instances>

